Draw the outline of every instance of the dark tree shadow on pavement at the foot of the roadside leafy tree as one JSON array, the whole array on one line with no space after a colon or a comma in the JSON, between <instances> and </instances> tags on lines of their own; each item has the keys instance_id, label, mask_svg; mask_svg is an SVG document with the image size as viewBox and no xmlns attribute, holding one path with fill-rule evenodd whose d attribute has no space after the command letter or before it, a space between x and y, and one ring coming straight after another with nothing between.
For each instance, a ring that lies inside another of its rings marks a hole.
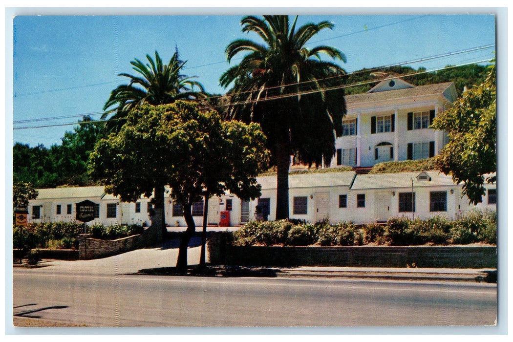
<instances>
[{"instance_id":1,"label":"dark tree shadow on pavement at the foot of the roadside leafy tree","mask_svg":"<svg viewBox=\"0 0 513 342\"><path fill-rule=\"evenodd\" d=\"M196 277L267 277L275 278L279 269L251 267L251 266L189 266L186 272L181 272L175 267L148 268L137 271L133 274L146 275L179 275Z\"/></svg>"}]
</instances>

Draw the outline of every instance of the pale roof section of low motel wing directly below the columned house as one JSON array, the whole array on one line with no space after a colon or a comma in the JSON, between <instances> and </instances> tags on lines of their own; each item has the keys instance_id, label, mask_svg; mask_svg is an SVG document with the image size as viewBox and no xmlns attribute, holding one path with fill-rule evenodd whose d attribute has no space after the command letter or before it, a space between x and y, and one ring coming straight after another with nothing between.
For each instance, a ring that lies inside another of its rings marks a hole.
<instances>
[{"instance_id":1,"label":"pale roof section of low motel wing directly below the columned house","mask_svg":"<svg viewBox=\"0 0 513 342\"><path fill-rule=\"evenodd\" d=\"M431 178L430 181L417 179L420 174L419 171L358 175L354 180L351 189L411 189L411 179L413 179L413 187L415 188L432 186L458 186L452 182L451 176L447 176L438 170L425 171L425 173L427 173L427 175Z\"/></svg>"}]
</instances>

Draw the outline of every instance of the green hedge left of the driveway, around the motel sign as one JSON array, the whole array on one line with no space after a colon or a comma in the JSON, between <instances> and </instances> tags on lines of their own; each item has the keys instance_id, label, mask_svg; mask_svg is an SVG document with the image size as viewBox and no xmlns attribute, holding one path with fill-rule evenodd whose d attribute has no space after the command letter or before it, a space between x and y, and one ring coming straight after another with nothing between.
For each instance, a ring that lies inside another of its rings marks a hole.
<instances>
[{"instance_id":1,"label":"green hedge left of the driveway, around the motel sign","mask_svg":"<svg viewBox=\"0 0 513 342\"><path fill-rule=\"evenodd\" d=\"M138 225L101 224L87 226L87 233L93 238L113 240L120 237L140 234L144 228ZM12 247L19 249L78 248L78 235L84 233L84 224L77 222L30 223L28 226L13 228Z\"/></svg>"}]
</instances>

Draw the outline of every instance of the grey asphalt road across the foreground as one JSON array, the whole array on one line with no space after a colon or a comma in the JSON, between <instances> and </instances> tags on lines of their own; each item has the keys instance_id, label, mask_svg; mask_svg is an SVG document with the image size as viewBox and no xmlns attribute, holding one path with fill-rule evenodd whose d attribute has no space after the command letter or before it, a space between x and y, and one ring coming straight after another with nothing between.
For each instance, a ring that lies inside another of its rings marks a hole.
<instances>
[{"instance_id":1,"label":"grey asphalt road across the foreground","mask_svg":"<svg viewBox=\"0 0 513 342\"><path fill-rule=\"evenodd\" d=\"M480 326L495 284L213 278L14 269L18 317L89 327Z\"/></svg>"}]
</instances>

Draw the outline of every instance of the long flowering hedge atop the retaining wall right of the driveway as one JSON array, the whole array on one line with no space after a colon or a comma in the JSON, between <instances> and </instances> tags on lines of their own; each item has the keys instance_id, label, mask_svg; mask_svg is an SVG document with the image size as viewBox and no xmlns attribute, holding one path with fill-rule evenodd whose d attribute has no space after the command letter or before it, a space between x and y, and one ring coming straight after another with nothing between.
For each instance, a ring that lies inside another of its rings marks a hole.
<instances>
[{"instance_id":1,"label":"long flowering hedge atop the retaining wall right of the driveway","mask_svg":"<svg viewBox=\"0 0 513 342\"><path fill-rule=\"evenodd\" d=\"M390 218L385 225L355 226L342 222L311 224L294 220L252 221L233 233L234 245L415 246L425 244L497 244L495 211L472 210L454 220L433 216L422 220Z\"/></svg>"}]
</instances>

